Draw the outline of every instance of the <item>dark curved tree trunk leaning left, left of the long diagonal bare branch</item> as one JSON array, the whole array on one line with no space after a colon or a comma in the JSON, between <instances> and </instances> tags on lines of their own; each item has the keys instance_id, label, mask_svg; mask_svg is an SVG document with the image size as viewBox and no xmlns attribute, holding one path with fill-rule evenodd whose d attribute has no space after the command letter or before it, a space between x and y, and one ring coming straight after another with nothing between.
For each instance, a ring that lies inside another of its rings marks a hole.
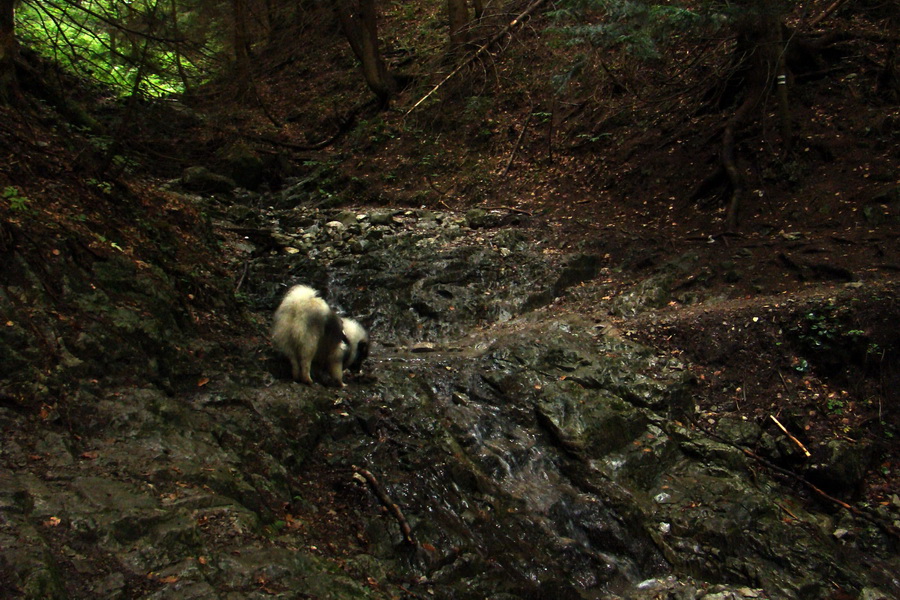
<instances>
[{"instance_id":1,"label":"dark curved tree trunk leaning left, left of the long diagonal bare branch","mask_svg":"<svg viewBox=\"0 0 900 600\"><path fill-rule=\"evenodd\" d=\"M397 82L388 71L378 49L378 17L374 0L335 2L341 28L353 54L362 65L363 77L381 106L387 106L397 92Z\"/></svg>"}]
</instances>

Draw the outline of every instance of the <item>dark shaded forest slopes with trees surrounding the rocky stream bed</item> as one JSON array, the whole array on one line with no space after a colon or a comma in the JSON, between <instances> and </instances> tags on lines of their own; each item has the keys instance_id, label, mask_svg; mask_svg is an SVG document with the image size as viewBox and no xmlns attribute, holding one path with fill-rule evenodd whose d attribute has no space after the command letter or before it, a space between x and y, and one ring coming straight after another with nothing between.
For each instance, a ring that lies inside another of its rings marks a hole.
<instances>
[{"instance_id":1,"label":"dark shaded forest slopes with trees surrounding the rocky stream bed","mask_svg":"<svg viewBox=\"0 0 900 600\"><path fill-rule=\"evenodd\" d=\"M896 544L898 41L886 0L0 0L0 410L269 368L271 210L440 211L590 257L534 305L852 463L757 457Z\"/></svg>"}]
</instances>

